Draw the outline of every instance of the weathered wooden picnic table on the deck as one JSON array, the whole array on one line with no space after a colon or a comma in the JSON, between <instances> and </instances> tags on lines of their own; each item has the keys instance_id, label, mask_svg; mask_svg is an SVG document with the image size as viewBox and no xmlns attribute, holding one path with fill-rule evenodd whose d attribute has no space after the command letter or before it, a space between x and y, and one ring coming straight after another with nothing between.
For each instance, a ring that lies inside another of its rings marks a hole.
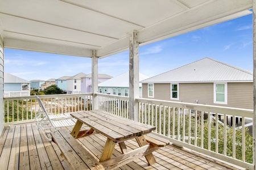
<instances>
[{"instance_id":1,"label":"weathered wooden picnic table on the deck","mask_svg":"<svg viewBox=\"0 0 256 170\"><path fill-rule=\"evenodd\" d=\"M152 152L169 143L164 141L164 139L158 140L146 135L155 130L155 126L141 124L140 122L119 117L105 111L80 111L71 113L71 116L77 119L71 131L71 135L74 138L86 137L94 133L100 133L107 138L99 162L104 167L108 167L108 169L127 164L142 156L145 156L149 165L152 165L156 163ZM84 124L89 126L89 129L81 130ZM139 148L128 151L125 141L134 138ZM119 145L122 155L111 158L116 144Z\"/></svg>"}]
</instances>

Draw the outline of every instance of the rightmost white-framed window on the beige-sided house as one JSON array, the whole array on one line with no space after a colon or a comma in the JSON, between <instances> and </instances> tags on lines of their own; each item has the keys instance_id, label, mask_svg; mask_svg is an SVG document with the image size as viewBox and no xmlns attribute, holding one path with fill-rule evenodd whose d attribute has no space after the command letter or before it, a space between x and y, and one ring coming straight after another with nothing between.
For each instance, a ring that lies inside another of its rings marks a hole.
<instances>
[{"instance_id":1,"label":"rightmost white-framed window on the beige-sided house","mask_svg":"<svg viewBox=\"0 0 256 170\"><path fill-rule=\"evenodd\" d=\"M228 104L227 83L214 83L214 103Z\"/></svg>"}]
</instances>

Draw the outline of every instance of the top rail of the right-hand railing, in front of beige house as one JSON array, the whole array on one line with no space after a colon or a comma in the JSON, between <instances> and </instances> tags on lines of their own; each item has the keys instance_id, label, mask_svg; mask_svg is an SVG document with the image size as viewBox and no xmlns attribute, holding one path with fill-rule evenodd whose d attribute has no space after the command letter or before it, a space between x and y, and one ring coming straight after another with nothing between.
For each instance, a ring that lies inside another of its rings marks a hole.
<instances>
[{"instance_id":1,"label":"top rail of the right-hand railing, in front of beige house","mask_svg":"<svg viewBox=\"0 0 256 170\"><path fill-rule=\"evenodd\" d=\"M164 105L167 107L184 108L184 109L213 112L213 113L220 113L220 114L225 113L233 116L245 116L245 117L253 118L253 109L231 108L231 107L222 107L217 105L193 104L193 103L184 103L179 101L166 101L166 100L155 100L155 99L144 99L144 98L138 98L136 100L141 103Z\"/></svg>"}]
</instances>

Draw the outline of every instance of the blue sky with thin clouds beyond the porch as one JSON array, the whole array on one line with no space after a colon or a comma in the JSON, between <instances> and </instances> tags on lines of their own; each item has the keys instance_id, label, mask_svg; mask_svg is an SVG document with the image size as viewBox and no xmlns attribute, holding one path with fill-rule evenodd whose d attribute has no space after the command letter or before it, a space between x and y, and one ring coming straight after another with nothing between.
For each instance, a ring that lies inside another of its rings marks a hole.
<instances>
[{"instance_id":1,"label":"blue sky with thin clouds beyond the porch","mask_svg":"<svg viewBox=\"0 0 256 170\"><path fill-rule=\"evenodd\" d=\"M155 76L209 57L253 71L252 14L139 48L139 72ZM92 59L5 49L5 72L25 80L48 80L92 72ZM98 59L98 73L129 71L129 52Z\"/></svg>"}]
</instances>

